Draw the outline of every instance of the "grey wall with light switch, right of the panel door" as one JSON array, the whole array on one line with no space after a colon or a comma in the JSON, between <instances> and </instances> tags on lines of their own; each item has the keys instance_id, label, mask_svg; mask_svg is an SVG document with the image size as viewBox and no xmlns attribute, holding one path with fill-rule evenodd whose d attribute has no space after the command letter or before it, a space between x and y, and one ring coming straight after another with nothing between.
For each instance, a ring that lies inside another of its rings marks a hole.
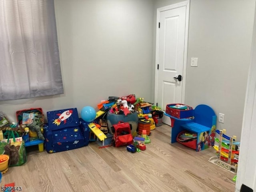
<instances>
[{"instance_id":1,"label":"grey wall with light switch, right of the panel door","mask_svg":"<svg viewBox=\"0 0 256 192\"><path fill-rule=\"evenodd\" d=\"M181 1L156 0L155 12ZM190 0L185 103L192 107L208 104L216 114L225 114L224 124L217 123L217 128L226 129L227 135L236 135L237 140L242 128L254 5L255 0ZM194 57L198 67L190 66Z\"/></svg>"}]
</instances>

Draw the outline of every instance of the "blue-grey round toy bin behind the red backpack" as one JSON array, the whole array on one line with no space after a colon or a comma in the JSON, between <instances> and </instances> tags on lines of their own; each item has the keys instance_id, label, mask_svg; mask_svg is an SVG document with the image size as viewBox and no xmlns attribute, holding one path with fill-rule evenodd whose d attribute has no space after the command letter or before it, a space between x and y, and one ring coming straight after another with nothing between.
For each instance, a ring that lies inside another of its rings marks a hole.
<instances>
[{"instance_id":1,"label":"blue-grey round toy bin behind the red backpack","mask_svg":"<svg viewBox=\"0 0 256 192\"><path fill-rule=\"evenodd\" d=\"M134 132L136 132L138 127L138 122L139 122L138 113L134 112L134 113L124 115L124 114L114 114L108 111L107 123L108 123L108 132L110 134L113 134L111 130L112 125L118 124L118 122L120 121L128 122L129 124L131 124L132 125L131 134L133 134Z\"/></svg>"}]
</instances>

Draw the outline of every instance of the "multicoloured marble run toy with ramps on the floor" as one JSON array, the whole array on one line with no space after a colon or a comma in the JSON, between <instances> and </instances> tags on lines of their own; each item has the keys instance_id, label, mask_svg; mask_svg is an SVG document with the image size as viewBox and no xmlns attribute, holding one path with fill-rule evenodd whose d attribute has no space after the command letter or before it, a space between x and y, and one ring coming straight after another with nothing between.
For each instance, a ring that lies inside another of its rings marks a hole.
<instances>
[{"instance_id":1,"label":"multicoloured marble run toy with ramps on the floor","mask_svg":"<svg viewBox=\"0 0 256 192\"><path fill-rule=\"evenodd\" d=\"M229 137L226 135L226 130L216 130L219 138L215 138L218 146L214 149L217 151L217 156L211 157L209 162L226 168L232 173L237 173L239 151L236 150L236 145L240 142L235 142L236 136ZM225 140L226 139L226 140Z\"/></svg>"}]
</instances>

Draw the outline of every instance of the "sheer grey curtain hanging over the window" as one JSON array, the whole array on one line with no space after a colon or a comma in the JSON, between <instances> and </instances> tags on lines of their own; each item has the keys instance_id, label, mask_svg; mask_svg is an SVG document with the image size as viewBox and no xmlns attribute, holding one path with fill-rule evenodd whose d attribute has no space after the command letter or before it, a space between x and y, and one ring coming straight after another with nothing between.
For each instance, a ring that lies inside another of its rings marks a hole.
<instances>
[{"instance_id":1,"label":"sheer grey curtain hanging over the window","mask_svg":"<svg viewBox=\"0 0 256 192\"><path fill-rule=\"evenodd\" d=\"M0 0L0 100L62 93L54 0Z\"/></svg>"}]
</instances>

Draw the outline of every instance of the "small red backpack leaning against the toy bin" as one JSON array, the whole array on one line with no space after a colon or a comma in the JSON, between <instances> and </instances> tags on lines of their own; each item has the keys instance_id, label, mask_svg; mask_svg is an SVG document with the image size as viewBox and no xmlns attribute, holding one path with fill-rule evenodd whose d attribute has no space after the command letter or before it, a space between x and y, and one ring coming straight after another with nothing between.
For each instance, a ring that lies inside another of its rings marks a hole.
<instances>
[{"instance_id":1,"label":"small red backpack leaning against the toy bin","mask_svg":"<svg viewBox=\"0 0 256 192\"><path fill-rule=\"evenodd\" d=\"M133 137L131 134L132 125L129 123L118 122L111 127L113 132L113 145L115 147L127 146L132 144Z\"/></svg>"}]
</instances>

